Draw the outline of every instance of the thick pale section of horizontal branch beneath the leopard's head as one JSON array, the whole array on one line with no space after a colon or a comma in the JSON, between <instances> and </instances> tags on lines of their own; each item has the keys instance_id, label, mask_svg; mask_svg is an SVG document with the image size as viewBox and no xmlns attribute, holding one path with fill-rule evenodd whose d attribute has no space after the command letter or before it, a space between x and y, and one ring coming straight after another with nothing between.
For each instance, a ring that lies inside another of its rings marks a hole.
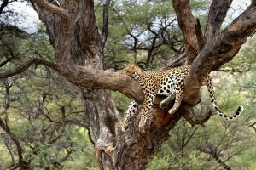
<instances>
[{"instance_id":1,"label":"thick pale section of horizontal branch beneath the leopard's head","mask_svg":"<svg viewBox=\"0 0 256 170\"><path fill-rule=\"evenodd\" d=\"M72 69L67 65L59 66L61 75L79 88L119 91L131 99L136 99L140 102L143 101L143 90L139 83L121 71L104 71L79 65L74 65Z\"/></svg>"}]
</instances>

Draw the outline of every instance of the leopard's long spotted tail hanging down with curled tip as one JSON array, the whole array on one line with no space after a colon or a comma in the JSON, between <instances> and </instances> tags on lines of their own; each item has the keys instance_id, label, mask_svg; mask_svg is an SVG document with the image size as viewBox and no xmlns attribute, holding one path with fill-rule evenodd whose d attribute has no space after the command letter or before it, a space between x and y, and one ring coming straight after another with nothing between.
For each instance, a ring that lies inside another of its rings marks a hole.
<instances>
[{"instance_id":1,"label":"leopard's long spotted tail hanging down with curled tip","mask_svg":"<svg viewBox=\"0 0 256 170\"><path fill-rule=\"evenodd\" d=\"M209 92L209 95L210 95L210 98L211 98L213 108L215 109L215 111L217 111L218 115L223 117L225 120L234 120L238 116L240 116L241 112L243 111L243 106L241 106L241 105L237 108L236 113L232 116L228 116L228 115L224 114L224 112L219 109L219 107L217 105L217 101L214 97L212 77L207 75L206 81L207 81L207 88L208 88L208 92Z\"/></svg>"}]
</instances>

